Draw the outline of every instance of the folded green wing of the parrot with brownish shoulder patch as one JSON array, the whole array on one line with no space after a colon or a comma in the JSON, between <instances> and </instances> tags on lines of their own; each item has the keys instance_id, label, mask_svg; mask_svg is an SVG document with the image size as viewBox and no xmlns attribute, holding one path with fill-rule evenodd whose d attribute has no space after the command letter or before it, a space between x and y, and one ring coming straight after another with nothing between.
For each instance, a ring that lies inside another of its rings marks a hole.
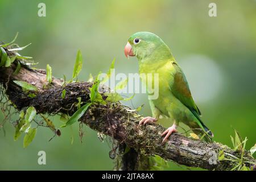
<instances>
[{"instance_id":1,"label":"folded green wing of the parrot with brownish shoulder patch","mask_svg":"<svg viewBox=\"0 0 256 182\"><path fill-rule=\"evenodd\" d=\"M185 78L185 75L179 65L172 61L172 65L174 65L175 72L174 72L174 83L170 85L170 89L172 94L180 100L182 104L188 107L192 113L199 118L201 112L199 108L196 106L193 97L191 96L191 92L189 90L188 82ZM200 118L199 118L200 120Z\"/></svg>"}]
</instances>

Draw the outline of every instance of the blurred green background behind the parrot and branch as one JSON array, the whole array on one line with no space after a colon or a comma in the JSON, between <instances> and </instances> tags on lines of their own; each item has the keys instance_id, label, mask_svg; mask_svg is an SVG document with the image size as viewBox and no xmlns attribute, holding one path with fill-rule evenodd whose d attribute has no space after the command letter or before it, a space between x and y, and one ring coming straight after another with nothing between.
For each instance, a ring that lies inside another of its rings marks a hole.
<instances>
[{"instance_id":1,"label":"blurred green background behind the parrot and branch","mask_svg":"<svg viewBox=\"0 0 256 182\"><path fill-rule=\"evenodd\" d=\"M38 16L38 4L46 3L46 17ZM217 17L209 17L209 3L217 3ZM183 68L203 121L214 140L232 146L230 135L239 131L256 143L256 1L0 1L0 40L31 46L20 52L34 57L38 68L50 64L56 77L72 77L78 49L84 57L79 79L107 71L112 59L119 73L137 73L135 58L123 55L134 32L150 31L170 46ZM131 102L126 102L131 107ZM145 94L133 99L135 107L150 115ZM3 114L0 114L1 121ZM12 121L15 121L15 117ZM59 117L53 117L60 126ZM168 126L168 125L166 125ZM52 132L40 127L34 141L23 148L14 142L14 127L0 129L0 169L113 169L111 144L101 143L97 133L84 126L80 142L78 123ZM73 144L71 137L73 135ZM46 151L47 164L38 165L38 151ZM170 163L167 169L188 169ZM192 168L194 169L194 168Z\"/></svg>"}]
</instances>

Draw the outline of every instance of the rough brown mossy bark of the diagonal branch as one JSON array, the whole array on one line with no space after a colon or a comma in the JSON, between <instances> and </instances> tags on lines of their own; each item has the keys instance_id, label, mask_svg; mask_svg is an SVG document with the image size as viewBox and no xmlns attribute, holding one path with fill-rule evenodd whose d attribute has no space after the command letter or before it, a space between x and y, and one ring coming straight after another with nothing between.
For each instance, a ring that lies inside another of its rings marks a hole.
<instances>
[{"instance_id":1,"label":"rough brown mossy bark of the diagonal branch","mask_svg":"<svg viewBox=\"0 0 256 182\"><path fill-rule=\"evenodd\" d=\"M9 68L0 68L0 83L6 90L6 95L13 102L17 110L28 106L34 106L37 113L48 114L73 114L76 107L77 97L82 102L88 102L89 88L91 82L75 82L61 86L62 80L53 78L52 84L46 86L46 71L22 67L18 75L13 75L16 68L16 61ZM28 93L16 85L13 80L26 81L38 88L36 97L28 97ZM61 98L62 90L66 90L66 96ZM142 118L136 111L122 105L120 102L108 103L106 105L94 104L90 106L80 122L85 123L91 129L109 135L120 143L134 148L144 155L159 155L166 160L172 160L178 164L189 167L200 167L204 169L230 170L237 165L237 162L229 160L218 161L218 152L224 150L237 158L241 157L240 151L233 151L221 143L205 143L184 137L180 134L172 134L166 143L162 144L160 134L165 130L157 124L148 124L138 129L138 122ZM136 152L134 156L136 156ZM134 157L133 156L133 157ZM123 156L124 158L126 156ZM229 155L227 158L232 159ZM246 152L245 157L250 162L256 162ZM210 164L213 162L212 164ZM249 167L252 164L246 163ZM124 168L125 169L125 168Z\"/></svg>"}]
</instances>

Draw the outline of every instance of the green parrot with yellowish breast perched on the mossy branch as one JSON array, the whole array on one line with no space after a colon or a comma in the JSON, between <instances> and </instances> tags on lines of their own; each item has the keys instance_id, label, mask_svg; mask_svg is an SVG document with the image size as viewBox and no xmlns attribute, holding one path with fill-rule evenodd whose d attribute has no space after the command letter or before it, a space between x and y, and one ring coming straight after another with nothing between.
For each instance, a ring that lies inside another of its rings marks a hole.
<instances>
[{"instance_id":1,"label":"green parrot with yellowish breast perched on the mossy branch","mask_svg":"<svg viewBox=\"0 0 256 182\"><path fill-rule=\"evenodd\" d=\"M210 141L212 132L201 121L201 112L196 106L188 82L179 64L172 56L170 48L159 36L151 32L137 32L130 36L125 46L125 56L136 56L139 62L139 75L146 85L147 93L149 88L148 80L154 85L154 78L148 74L158 73L158 98L150 99L152 117L145 117L139 122L140 125L154 123L160 117L171 118L174 122L171 127L163 132L163 142L183 122L189 126L193 133L204 135L204 139ZM138 127L139 127L138 126Z\"/></svg>"}]
</instances>

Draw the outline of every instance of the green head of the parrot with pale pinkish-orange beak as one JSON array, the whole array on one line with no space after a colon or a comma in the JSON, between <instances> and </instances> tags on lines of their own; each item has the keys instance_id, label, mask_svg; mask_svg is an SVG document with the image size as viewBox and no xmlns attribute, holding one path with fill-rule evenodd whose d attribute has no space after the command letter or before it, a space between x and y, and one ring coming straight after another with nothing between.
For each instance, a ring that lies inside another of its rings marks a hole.
<instances>
[{"instance_id":1,"label":"green head of the parrot with pale pinkish-orange beak","mask_svg":"<svg viewBox=\"0 0 256 182\"><path fill-rule=\"evenodd\" d=\"M125 46L125 56L136 56L139 60L160 52L171 54L163 40L151 32L137 32L131 35Z\"/></svg>"}]
</instances>

